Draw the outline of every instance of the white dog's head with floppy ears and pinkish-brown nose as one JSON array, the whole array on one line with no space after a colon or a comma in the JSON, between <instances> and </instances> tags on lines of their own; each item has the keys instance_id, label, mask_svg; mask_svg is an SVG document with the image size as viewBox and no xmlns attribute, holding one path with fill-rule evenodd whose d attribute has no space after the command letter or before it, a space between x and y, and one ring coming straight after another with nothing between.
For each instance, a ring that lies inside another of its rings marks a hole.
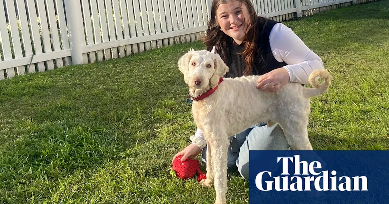
<instances>
[{"instance_id":1,"label":"white dog's head with floppy ears and pinkish-brown nose","mask_svg":"<svg viewBox=\"0 0 389 204\"><path fill-rule=\"evenodd\" d=\"M219 78L228 72L228 66L219 54L207 50L189 50L179 59L178 68L193 96L215 87Z\"/></svg>"}]
</instances>

